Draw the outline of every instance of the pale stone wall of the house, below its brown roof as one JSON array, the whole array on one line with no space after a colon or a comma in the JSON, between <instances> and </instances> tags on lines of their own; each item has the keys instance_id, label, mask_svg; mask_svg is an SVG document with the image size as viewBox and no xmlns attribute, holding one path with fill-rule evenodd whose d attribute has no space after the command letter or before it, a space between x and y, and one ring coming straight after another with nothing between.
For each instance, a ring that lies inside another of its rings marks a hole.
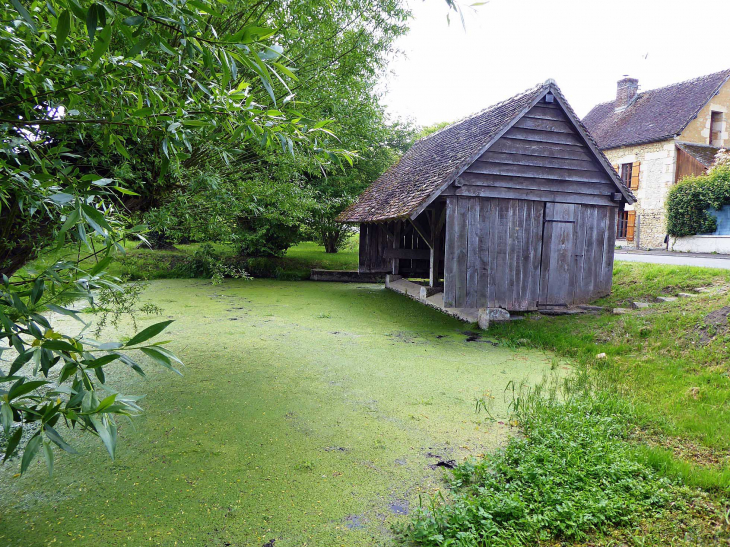
<instances>
[{"instance_id":1,"label":"pale stone wall of the house, below its brown roof","mask_svg":"<svg viewBox=\"0 0 730 547\"><path fill-rule=\"evenodd\" d=\"M642 249L664 246L667 233L666 200L674 184L677 149L673 140L605 150L612 165L641 162L639 188L634 190L637 202L627 205L640 217L639 245ZM636 239L633 245L636 244ZM632 243L628 243L632 245Z\"/></svg>"}]
</instances>

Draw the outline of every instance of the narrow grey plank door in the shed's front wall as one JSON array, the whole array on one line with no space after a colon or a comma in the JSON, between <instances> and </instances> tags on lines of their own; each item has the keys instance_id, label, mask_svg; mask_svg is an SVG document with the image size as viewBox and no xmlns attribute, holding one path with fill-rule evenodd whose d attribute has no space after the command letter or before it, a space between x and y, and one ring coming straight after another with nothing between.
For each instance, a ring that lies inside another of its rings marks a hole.
<instances>
[{"instance_id":1,"label":"narrow grey plank door in the shed's front wall","mask_svg":"<svg viewBox=\"0 0 730 547\"><path fill-rule=\"evenodd\" d=\"M579 205L546 203L540 266L540 299L543 306L573 303L575 223Z\"/></svg>"}]
</instances>

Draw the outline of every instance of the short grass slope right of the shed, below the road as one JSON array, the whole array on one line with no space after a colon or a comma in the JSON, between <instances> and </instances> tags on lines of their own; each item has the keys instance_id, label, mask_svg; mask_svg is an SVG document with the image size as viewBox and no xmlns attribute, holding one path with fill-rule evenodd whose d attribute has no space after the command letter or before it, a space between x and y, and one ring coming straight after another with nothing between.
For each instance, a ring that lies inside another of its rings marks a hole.
<instances>
[{"instance_id":1,"label":"short grass slope right of the shed, below the road","mask_svg":"<svg viewBox=\"0 0 730 547\"><path fill-rule=\"evenodd\" d=\"M713 292L655 300L700 287ZM591 367L649 425L696 443L698 456L704 447L723 457L730 450L730 325L722 314L730 306L730 272L619 262L612 294L598 303L631 301L651 306L625 315L528 319L493 332L505 343L550 349ZM607 358L597 359L600 353Z\"/></svg>"}]
</instances>

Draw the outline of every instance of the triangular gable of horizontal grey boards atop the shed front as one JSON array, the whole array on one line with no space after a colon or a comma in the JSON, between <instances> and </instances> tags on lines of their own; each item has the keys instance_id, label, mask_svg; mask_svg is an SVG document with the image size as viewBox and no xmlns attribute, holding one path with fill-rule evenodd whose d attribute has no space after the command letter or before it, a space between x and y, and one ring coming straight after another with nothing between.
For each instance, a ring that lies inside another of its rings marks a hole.
<instances>
[{"instance_id":1,"label":"triangular gable of horizontal grey boards atop the shed front","mask_svg":"<svg viewBox=\"0 0 730 547\"><path fill-rule=\"evenodd\" d=\"M444 194L618 206L617 192L563 108L541 100Z\"/></svg>"}]
</instances>

